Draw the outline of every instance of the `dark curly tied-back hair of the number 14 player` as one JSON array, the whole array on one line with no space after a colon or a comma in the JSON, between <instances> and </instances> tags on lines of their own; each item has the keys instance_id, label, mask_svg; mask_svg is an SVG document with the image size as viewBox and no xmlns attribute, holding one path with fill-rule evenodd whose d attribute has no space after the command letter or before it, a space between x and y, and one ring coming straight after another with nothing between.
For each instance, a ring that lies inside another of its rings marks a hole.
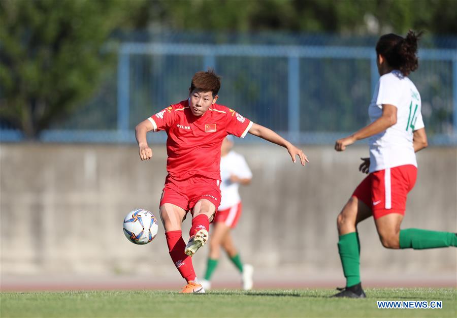
<instances>
[{"instance_id":1,"label":"dark curly tied-back hair of the number 14 player","mask_svg":"<svg viewBox=\"0 0 457 318\"><path fill-rule=\"evenodd\" d=\"M418 34L409 30L405 38L389 33L381 36L376 44L376 54L382 55L389 66L400 70L404 76L408 76L419 67L417 42L423 31Z\"/></svg>"}]
</instances>

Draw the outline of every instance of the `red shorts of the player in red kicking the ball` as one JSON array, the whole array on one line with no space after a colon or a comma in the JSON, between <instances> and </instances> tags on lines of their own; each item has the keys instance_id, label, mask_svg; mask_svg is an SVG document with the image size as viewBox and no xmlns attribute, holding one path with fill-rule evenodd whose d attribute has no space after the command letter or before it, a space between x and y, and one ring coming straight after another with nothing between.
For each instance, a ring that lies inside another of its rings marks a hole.
<instances>
[{"instance_id":1,"label":"red shorts of the player in red kicking the ball","mask_svg":"<svg viewBox=\"0 0 457 318\"><path fill-rule=\"evenodd\" d=\"M173 179L170 175L165 178L160 206L171 203L185 211L193 209L195 203L206 199L217 207L220 204L220 181L202 176L194 176L185 180Z\"/></svg>"}]
</instances>

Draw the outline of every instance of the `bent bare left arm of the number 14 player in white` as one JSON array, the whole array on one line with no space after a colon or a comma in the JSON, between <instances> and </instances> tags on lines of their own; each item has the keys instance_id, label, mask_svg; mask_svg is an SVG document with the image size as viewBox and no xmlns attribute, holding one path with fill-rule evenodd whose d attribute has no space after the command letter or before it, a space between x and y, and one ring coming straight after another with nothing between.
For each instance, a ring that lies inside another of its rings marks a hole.
<instances>
[{"instance_id":1,"label":"bent bare left arm of the number 14 player in white","mask_svg":"<svg viewBox=\"0 0 457 318\"><path fill-rule=\"evenodd\" d=\"M383 104L382 116L365 126L361 130L355 132L349 137L338 139L335 143L336 151L344 151L347 146L352 145L357 140L365 139L380 132L385 131L390 126L397 123L397 107L394 105Z\"/></svg>"}]
</instances>

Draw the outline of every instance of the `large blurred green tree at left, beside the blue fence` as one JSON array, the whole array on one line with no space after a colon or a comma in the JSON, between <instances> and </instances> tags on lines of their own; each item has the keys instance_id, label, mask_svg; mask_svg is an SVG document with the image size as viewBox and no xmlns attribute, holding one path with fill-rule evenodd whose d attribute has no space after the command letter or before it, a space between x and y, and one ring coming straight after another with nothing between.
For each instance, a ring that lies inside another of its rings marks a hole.
<instances>
[{"instance_id":1,"label":"large blurred green tree at left, beside the blue fence","mask_svg":"<svg viewBox=\"0 0 457 318\"><path fill-rule=\"evenodd\" d=\"M104 49L143 2L0 2L0 116L36 138L89 98L115 55Z\"/></svg>"}]
</instances>

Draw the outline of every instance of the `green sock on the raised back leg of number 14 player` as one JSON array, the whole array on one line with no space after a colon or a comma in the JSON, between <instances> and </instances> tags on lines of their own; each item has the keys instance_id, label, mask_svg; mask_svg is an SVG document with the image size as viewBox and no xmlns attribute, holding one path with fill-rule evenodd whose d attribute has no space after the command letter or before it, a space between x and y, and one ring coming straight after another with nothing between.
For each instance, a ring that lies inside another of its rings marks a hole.
<instances>
[{"instance_id":1,"label":"green sock on the raised back leg of number 14 player","mask_svg":"<svg viewBox=\"0 0 457 318\"><path fill-rule=\"evenodd\" d=\"M400 248L437 248L457 246L457 235L420 229L400 230Z\"/></svg>"}]
</instances>

